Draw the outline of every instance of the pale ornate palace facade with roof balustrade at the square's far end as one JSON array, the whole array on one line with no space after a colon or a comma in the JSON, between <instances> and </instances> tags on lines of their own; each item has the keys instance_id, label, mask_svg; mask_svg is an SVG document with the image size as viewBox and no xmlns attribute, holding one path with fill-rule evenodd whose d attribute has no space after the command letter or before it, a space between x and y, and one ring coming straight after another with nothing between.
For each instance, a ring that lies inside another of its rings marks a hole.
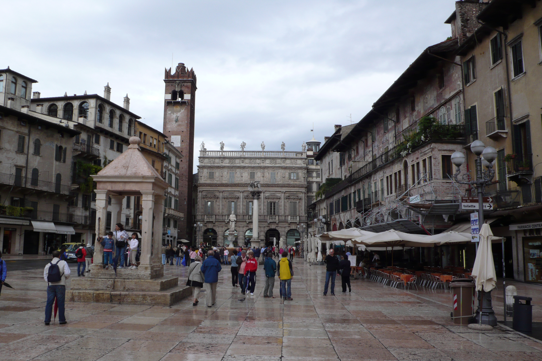
<instances>
[{"instance_id":1,"label":"pale ornate palace facade with roof balustrade at the square's far end","mask_svg":"<svg viewBox=\"0 0 542 361\"><path fill-rule=\"evenodd\" d=\"M318 142L317 142L318 143ZM259 237L266 244L282 237L294 244L307 221L307 151L199 151L196 243L224 244L228 217L236 215L235 244L253 237L253 198L248 186L260 182ZM312 179L313 177L311 177Z\"/></svg>"}]
</instances>

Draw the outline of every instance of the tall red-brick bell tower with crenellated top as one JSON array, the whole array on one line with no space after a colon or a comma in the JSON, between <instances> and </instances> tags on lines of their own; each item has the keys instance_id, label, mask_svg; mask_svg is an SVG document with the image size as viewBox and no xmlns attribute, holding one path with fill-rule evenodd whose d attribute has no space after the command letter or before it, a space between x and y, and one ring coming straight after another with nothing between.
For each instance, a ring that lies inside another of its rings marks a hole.
<instances>
[{"instance_id":1,"label":"tall red-brick bell tower with crenellated top","mask_svg":"<svg viewBox=\"0 0 542 361\"><path fill-rule=\"evenodd\" d=\"M163 133L183 154L179 165L179 210L184 213L184 220L178 223L177 237L191 241L196 74L179 63L174 73L171 68L165 69L164 83Z\"/></svg>"}]
</instances>

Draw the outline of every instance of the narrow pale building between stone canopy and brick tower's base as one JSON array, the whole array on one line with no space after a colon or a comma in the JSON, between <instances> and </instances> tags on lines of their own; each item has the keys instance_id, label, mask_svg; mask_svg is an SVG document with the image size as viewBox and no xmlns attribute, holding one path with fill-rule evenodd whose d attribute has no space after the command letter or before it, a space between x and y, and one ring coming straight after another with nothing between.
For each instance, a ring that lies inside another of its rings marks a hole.
<instances>
[{"instance_id":1,"label":"narrow pale building between stone canopy and brick tower's base","mask_svg":"<svg viewBox=\"0 0 542 361\"><path fill-rule=\"evenodd\" d=\"M173 244L175 247L183 243L180 240L188 240L186 233L179 234L179 221L184 220L184 213L179 210L179 166L183 154L166 140L164 156L163 174L168 187L164 199L163 244Z\"/></svg>"}]
</instances>

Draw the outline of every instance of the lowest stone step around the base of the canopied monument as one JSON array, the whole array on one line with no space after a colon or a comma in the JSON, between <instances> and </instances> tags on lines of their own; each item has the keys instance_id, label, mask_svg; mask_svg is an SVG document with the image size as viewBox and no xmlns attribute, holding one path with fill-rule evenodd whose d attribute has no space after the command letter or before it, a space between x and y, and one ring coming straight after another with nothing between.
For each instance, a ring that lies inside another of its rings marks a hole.
<instances>
[{"instance_id":1,"label":"lowest stone step around the base of the canopied monument","mask_svg":"<svg viewBox=\"0 0 542 361\"><path fill-rule=\"evenodd\" d=\"M113 304L171 306L190 296L190 286L176 286L164 291L114 291L112 289L70 289L66 300Z\"/></svg>"}]
</instances>

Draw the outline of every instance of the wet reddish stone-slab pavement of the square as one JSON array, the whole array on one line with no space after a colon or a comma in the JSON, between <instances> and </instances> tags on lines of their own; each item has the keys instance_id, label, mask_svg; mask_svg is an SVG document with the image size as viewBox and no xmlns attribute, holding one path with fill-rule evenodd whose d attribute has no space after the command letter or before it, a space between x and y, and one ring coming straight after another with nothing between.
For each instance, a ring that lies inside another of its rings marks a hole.
<instances>
[{"instance_id":1,"label":"wet reddish stone-slab pavement of the square","mask_svg":"<svg viewBox=\"0 0 542 361\"><path fill-rule=\"evenodd\" d=\"M339 283L336 296L322 296L325 268L296 259L293 301L263 298L259 270L254 297L241 302L223 267L212 308L204 298L197 307L190 299L171 307L72 302L64 326L43 325L43 271L10 272L17 290L3 288L0 296L0 360L542 360L537 340L501 327L480 333L453 325L443 291L356 280L352 293ZM185 273L165 266L179 282ZM540 291L530 292L540 300Z\"/></svg>"}]
</instances>

